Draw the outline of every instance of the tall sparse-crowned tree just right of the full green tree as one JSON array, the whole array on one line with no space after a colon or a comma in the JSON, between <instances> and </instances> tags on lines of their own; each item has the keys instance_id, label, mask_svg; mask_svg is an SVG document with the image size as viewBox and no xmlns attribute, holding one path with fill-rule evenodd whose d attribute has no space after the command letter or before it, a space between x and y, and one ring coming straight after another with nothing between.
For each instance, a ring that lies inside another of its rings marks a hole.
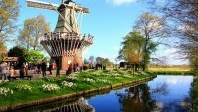
<instances>
[{"instance_id":1,"label":"tall sparse-crowned tree just right of the full green tree","mask_svg":"<svg viewBox=\"0 0 198 112\"><path fill-rule=\"evenodd\" d=\"M169 36L168 25L164 19L146 12L140 15L140 18L136 21L134 30L140 32L145 38L142 58L144 71L147 69L151 59L150 56L156 51L156 47L159 44L166 44L164 43L164 39Z\"/></svg>"}]
</instances>

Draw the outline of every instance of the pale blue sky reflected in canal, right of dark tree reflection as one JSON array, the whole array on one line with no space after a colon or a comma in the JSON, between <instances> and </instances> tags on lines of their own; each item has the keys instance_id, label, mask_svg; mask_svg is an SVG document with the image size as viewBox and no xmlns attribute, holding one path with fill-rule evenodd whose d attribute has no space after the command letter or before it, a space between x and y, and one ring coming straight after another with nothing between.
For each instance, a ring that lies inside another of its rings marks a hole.
<instances>
[{"instance_id":1,"label":"pale blue sky reflected in canal, right of dark tree reflection","mask_svg":"<svg viewBox=\"0 0 198 112\"><path fill-rule=\"evenodd\" d=\"M186 106L189 106L188 100L190 99L189 92L191 83L193 82L192 76L157 76L153 81L148 83L150 90L166 85L166 93L152 92L151 98L156 100L158 111L164 112L177 112L186 111Z\"/></svg>"}]
</instances>

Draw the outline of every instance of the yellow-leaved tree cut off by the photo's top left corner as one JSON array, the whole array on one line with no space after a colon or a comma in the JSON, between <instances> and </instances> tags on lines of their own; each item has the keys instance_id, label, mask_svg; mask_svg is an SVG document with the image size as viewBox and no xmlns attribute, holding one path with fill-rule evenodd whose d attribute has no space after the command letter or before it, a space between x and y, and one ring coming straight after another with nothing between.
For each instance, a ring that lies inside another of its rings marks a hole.
<instances>
[{"instance_id":1,"label":"yellow-leaved tree cut off by the photo's top left corner","mask_svg":"<svg viewBox=\"0 0 198 112\"><path fill-rule=\"evenodd\" d=\"M16 20L19 16L19 3L16 0L0 1L0 42L8 41L15 30Z\"/></svg>"}]
</instances>

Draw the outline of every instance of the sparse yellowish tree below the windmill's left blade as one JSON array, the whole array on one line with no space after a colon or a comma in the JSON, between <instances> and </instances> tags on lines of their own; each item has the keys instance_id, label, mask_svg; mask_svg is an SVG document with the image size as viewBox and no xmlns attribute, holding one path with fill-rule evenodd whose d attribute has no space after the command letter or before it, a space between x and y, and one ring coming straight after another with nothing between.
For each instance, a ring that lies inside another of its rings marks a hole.
<instances>
[{"instance_id":1,"label":"sparse yellowish tree below the windmill's left blade","mask_svg":"<svg viewBox=\"0 0 198 112\"><path fill-rule=\"evenodd\" d=\"M46 22L42 15L36 18L29 18L24 21L24 27L19 31L19 44L27 50L41 50L42 46L39 39L44 36L44 33L50 31L49 23Z\"/></svg>"}]
</instances>

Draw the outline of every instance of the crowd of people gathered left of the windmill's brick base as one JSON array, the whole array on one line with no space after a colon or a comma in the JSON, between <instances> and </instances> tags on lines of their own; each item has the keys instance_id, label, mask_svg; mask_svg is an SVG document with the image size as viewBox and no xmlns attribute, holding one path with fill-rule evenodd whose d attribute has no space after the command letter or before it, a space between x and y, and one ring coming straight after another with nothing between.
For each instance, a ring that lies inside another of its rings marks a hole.
<instances>
[{"instance_id":1,"label":"crowd of people gathered left of the windmill's brick base","mask_svg":"<svg viewBox=\"0 0 198 112\"><path fill-rule=\"evenodd\" d=\"M23 63L19 70L15 70L16 66L14 64L0 61L0 80L10 81L11 77L17 74L23 78L25 75L30 73L30 70L33 71L32 73L42 73L42 76L46 77L46 71L49 71L49 75L52 75L52 70L56 69L56 67L57 66L55 62L48 63L42 60L42 62L39 63Z\"/></svg>"}]
</instances>

